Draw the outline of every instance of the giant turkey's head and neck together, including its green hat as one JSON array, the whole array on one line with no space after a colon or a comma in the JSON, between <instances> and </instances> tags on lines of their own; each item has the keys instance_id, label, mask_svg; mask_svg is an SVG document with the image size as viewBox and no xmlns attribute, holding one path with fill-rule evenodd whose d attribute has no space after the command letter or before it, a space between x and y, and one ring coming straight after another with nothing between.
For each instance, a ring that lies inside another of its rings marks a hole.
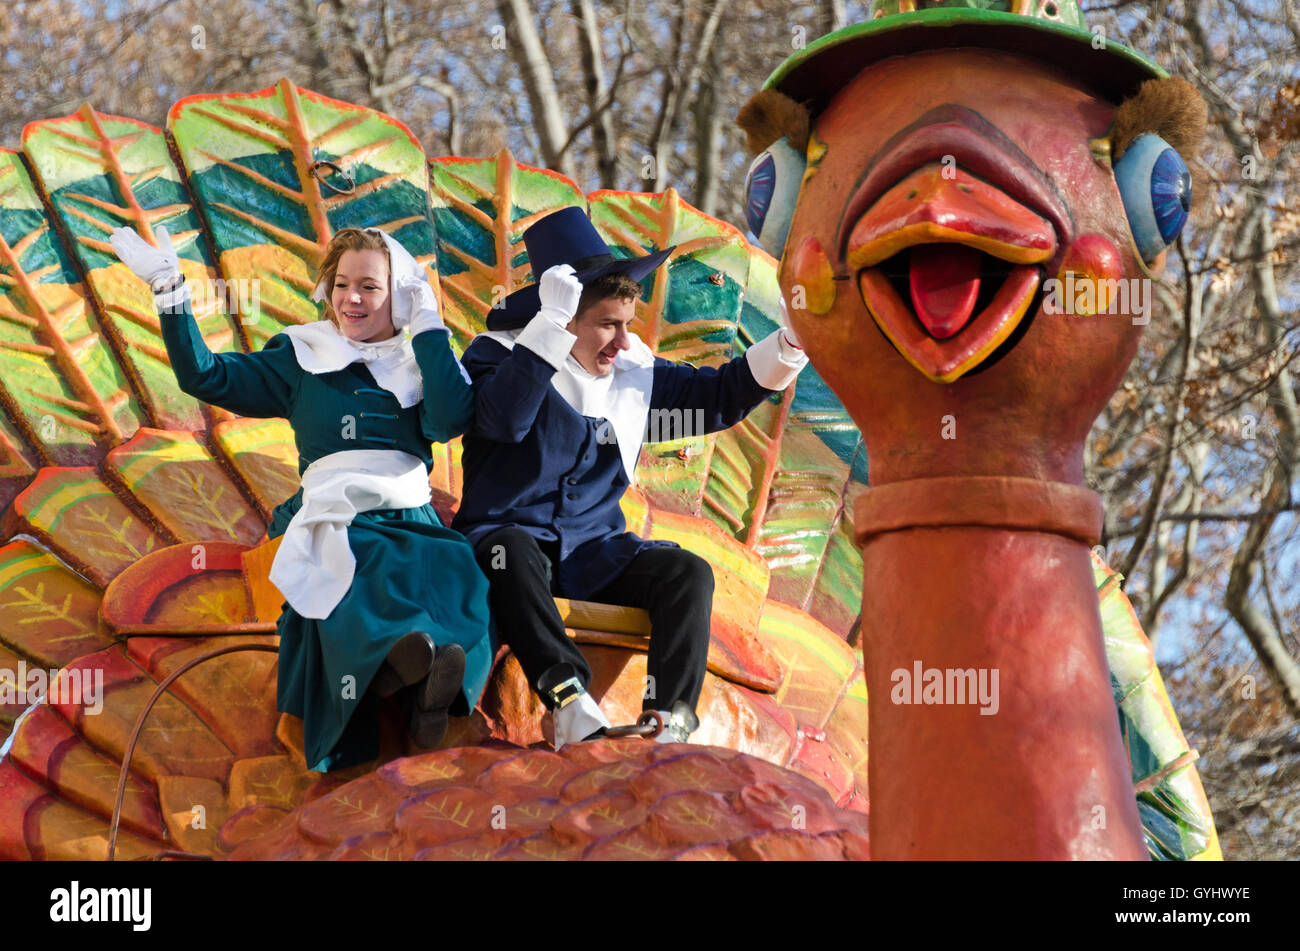
<instances>
[{"instance_id":1,"label":"giant turkey's head and neck together, including its green hat","mask_svg":"<svg viewBox=\"0 0 1300 951\"><path fill-rule=\"evenodd\" d=\"M1066 0L874 12L738 117L763 149L750 230L870 463L872 855L1141 857L1083 447L1186 223L1205 108ZM996 715L896 690L927 665L997 673Z\"/></svg>"}]
</instances>

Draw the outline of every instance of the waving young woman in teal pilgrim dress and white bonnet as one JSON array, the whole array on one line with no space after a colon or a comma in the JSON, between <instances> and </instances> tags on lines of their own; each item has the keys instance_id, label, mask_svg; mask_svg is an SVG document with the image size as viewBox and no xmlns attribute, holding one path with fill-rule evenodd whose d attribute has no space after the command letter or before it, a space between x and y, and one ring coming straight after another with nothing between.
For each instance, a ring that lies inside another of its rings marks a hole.
<instances>
[{"instance_id":1,"label":"waving young woman in teal pilgrim dress and white bonnet","mask_svg":"<svg viewBox=\"0 0 1300 951\"><path fill-rule=\"evenodd\" d=\"M429 504L430 443L464 433L474 404L424 269L384 231L343 229L313 298L326 320L212 353L166 230L151 243L118 229L112 246L153 288L181 390L292 426L303 485L268 535L283 535L277 707L302 717L308 767L374 759L378 699L398 692L412 739L437 746L448 713L477 703L493 650L488 581Z\"/></svg>"}]
</instances>

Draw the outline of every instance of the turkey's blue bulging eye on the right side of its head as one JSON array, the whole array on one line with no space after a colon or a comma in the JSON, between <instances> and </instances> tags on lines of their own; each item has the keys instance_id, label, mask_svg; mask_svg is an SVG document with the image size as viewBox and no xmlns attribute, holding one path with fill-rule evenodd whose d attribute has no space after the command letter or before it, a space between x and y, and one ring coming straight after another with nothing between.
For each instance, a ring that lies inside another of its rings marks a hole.
<instances>
[{"instance_id":1,"label":"turkey's blue bulging eye on the right side of its head","mask_svg":"<svg viewBox=\"0 0 1300 951\"><path fill-rule=\"evenodd\" d=\"M1115 182L1128 227L1143 260L1173 244L1192 208L1192 175L1173 147L1158 135L1138 136L1115 162Z\"/></svg>"}]
</instances>

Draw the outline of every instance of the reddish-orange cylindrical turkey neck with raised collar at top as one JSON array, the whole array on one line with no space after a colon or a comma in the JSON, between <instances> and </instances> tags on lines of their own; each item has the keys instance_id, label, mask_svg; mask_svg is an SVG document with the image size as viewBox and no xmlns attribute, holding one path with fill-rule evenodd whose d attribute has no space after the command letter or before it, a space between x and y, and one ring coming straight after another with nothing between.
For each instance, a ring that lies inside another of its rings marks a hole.
<instances>
[{"instance_id":1,"label":"reddish-orange cylindrical turkey neck with raised collar at top","mask_svg":"<svg viewBox=\"0 0 1300 951\"><path fill-rule=\"evenodd\" d=\"M910 479L857 508L878 859L1144 859L1089 546L1097 496Z\"/></svg>"}]
</instances>

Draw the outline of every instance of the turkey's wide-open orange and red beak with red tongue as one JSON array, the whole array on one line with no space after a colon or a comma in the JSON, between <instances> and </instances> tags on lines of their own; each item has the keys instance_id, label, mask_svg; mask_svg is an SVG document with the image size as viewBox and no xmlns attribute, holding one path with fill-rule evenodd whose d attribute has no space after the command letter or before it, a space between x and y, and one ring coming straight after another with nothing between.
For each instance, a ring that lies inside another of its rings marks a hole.
<instances>
[{"instance_id":1,"label":"turkey's wide-open orange and red beak with red tongue","mask_svg":"<svg viewBox=\"0 0 1300 951\"><path fill-rule=\"evenodd\" d=\"M936 112L942 121L914 126L867 171L844 253L880 331L950 383L1020 326L1070 220L1005 135L970 110Z\"/></svg>"}]
</instances>

